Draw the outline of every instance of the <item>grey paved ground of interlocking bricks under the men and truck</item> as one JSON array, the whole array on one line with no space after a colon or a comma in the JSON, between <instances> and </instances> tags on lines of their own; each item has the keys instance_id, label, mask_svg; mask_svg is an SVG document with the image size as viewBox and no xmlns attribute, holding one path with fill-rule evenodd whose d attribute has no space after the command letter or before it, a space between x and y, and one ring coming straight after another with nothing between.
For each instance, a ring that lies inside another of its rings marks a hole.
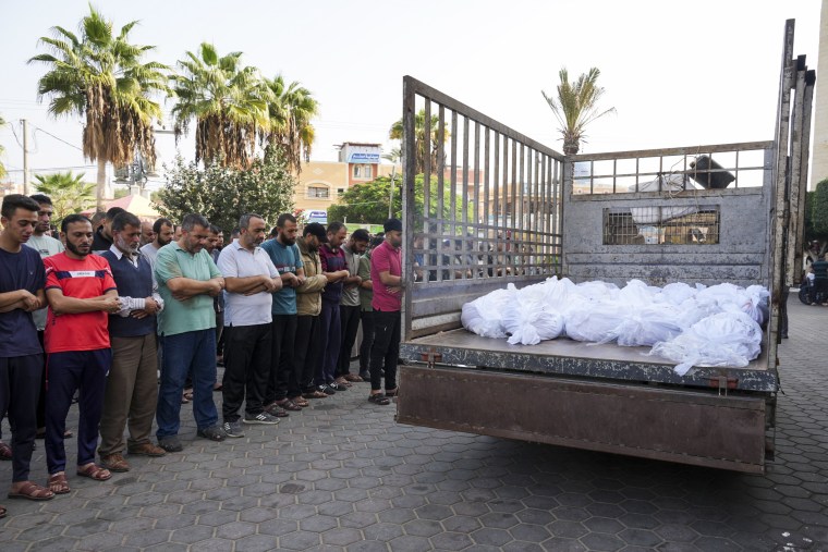
<instances>
[{"instance_id":1,"label":"grey paved ground of interlocking bricks under the men and truck","mask_svg":"<svg viewBox=\"0 0 828 552\"><path fill-rule=\"evenodd\" d=\"M828 308L791 299L764 477L397 426L361 384L224 443L188 413L184 453L2 501L0 550L828 550Z\"/></svg>"}]
</instances>

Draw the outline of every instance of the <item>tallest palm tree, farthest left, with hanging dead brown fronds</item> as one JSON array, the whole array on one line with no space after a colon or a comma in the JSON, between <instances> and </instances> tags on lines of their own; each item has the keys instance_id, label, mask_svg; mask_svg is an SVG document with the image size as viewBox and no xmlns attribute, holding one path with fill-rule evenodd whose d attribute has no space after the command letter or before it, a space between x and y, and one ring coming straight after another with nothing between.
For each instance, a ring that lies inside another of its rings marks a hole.
<instances>
[{"instance_id":1,"label":"tallest palm tree, farthest left, with hanging dead brown fronds","mask_svg":"<svg viewBox=\"0 0 828 552\"><path fill-rule=\"evenodd\" d=\"M80 34L56 26L53 37L41 37L49 53L35 56L49 71L38 82L38 97L49 96L49 112L54 116L77 114L85 118L83 151L98 163L97 205L102 207L108 162L132 162L136 151L155 162L153 120L160 119L161 107L151 99L167 94L167 65L142 58L155 46L132 45L129 34L133 21L112 34L112 23L89 8L81 20Z\"/></svg>"}]
</instances>

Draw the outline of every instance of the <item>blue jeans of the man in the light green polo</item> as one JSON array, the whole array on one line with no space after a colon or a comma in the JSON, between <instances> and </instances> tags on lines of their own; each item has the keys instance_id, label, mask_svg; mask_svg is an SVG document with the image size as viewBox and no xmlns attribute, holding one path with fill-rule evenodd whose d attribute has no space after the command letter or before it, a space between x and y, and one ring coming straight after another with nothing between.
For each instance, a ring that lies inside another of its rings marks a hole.
<instances>
[{"instance_id":1,"label":"blue jeans of the man in the light green polo","mask_svg":"<svg viewBox=\"0 0 828 552\"><path fill-rule=\"evenodd\" d=\"M193 416L198 429L216 426L219 415L212 402L216 384L216 330L197 330L161 336L163 364L158 390L158 439L179 434L181 395L187 372L193 377Z\"/></svg>"}]
</instances>

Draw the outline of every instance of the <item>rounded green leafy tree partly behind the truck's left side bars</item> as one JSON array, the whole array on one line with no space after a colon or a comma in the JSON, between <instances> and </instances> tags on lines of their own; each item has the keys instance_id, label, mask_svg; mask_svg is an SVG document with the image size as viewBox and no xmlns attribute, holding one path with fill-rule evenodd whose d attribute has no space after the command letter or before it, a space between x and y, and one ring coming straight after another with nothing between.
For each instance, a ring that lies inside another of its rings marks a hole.
<instances>
[{"instance_id":1,"label":"rounded green leafy tree partly behind the truck's left side bars","mask_svg":"<svg viewBox=\"0 0 828 552\"><path fill-rule=\"evenodd\" d=\"M392 213L394 217L402 217L402 194L400 192L401 179L394 179L394 195ZM418 174L414 181L414 216L423 217L423 175ZM431 179L429 194L429 212L434 216L437 211L437 180ZM339 201L328 209L328 221L358 222L363 224L379 223L388 219L388 199L391 192L391 179L389 176L379 176L364 184L356 184L340 197ZM466 206L467 216L472 213L472 206ZM463 216L463 206L455 206L455 219L461 220ZM451 217L451 206L448 201L443 205L443 218Z\"/></svg>"}]
</instances>

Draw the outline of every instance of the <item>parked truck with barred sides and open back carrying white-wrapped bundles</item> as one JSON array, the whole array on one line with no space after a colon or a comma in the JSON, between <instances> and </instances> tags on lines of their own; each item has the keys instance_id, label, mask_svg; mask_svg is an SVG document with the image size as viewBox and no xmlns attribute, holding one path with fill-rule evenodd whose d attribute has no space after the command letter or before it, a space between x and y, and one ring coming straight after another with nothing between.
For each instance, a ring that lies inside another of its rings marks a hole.
<instances>
[{"instance_id":1,"label":"parked truck with barred sides and open back carrying white-wrapped bundles","mask_svg":"<svg viewBox=\"0 0 828 552\"><path fill-rule=\"evenodd\" d=\"M793 33L788 21L767 142L563 156L404 77L398 422L764 473L816 78ZM642 347L510 345L462 328L465 303L552 275L765 285L762 354L679 376Z\"/></svg>"}]
</instances>

